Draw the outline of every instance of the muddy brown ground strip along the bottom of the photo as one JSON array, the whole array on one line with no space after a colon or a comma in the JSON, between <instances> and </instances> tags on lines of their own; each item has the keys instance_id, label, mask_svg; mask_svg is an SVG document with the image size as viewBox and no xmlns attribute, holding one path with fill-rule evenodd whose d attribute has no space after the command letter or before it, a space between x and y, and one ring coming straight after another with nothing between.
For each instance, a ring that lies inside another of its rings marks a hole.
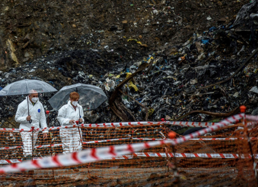
<instances>
[{"instance_id":1,"label":"muddy brown ground strip along the bottom of the photo","mask_svg":"<svg viewBox=\"0 0 258 187\"><path fill-rule=\"evenodd\" d=\"M80 169L79 172L66 172L64 169L54 170L54 179L51 178L52 170L35 170L35 174L42 173L42 177L49 176L50 180L45 178L23 178L13 177L11 182L3 179L2 186L250 186L255 185L250 181L249 184L236 180L238 170L234 167L228 168L177 168L178 176L167 167L161 168L116 168L116 169ZM245 175L249 175L244 171ZM43 175L44 174L44 175Z\"/></svg>"}]
</instances>

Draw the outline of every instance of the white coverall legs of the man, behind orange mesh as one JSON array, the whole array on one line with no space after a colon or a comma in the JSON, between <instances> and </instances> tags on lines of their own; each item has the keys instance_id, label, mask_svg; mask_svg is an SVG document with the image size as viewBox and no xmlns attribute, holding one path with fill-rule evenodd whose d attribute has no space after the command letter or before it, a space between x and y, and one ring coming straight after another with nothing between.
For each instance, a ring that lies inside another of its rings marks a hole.
<instances>
[{"instance_id":1,"label":"white coverall legs of the man, behind orange mesh","mask_svg":"<svg viewBox=\"0 0 258 187\"><path fill-rule=\"evenodd\" d=\"M20 132L23 143L24 157L32 156L32 132ZM38 139L38 132L33 132L33 146L35 146Z\"/></svg>"}]
</instances>

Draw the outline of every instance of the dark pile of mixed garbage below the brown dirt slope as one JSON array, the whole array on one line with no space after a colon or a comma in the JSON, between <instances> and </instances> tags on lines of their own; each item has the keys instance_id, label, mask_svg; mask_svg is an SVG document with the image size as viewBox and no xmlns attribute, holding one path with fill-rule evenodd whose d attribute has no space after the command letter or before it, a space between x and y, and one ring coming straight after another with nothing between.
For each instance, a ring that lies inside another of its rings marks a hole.
<instances>
[{"instance_id":1,"label":"dark pile of mixed garbage below the brown dirt slope","mask_svg":"<svg viewBox=\"0 0 258 187\"><path fill-rule=\"evenodd\" d=\"M109 99L86 111L85 123L207 121L232 115L240 105L257 115L257 13L257 2L251 1L234 22L196 32L185 43L140 60L138 54L127 64L119 63L119 54L111 49L53 52L0 72L0 86L25 78L43 80L56 89L78 82L99 86ZM117 59L110 64L103 55ZM59 126L57 112L47 102L53 94L40 94L40 100L51 111L50 126ZM13 115L24 97L1 98L1 127L18 127Z\"/></svg>"}]
</instances>

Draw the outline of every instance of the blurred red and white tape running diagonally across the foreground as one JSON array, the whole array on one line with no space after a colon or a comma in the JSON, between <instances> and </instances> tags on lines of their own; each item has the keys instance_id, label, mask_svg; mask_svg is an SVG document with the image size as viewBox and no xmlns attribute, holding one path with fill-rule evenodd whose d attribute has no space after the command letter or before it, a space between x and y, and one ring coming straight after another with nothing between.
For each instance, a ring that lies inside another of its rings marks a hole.
<instances>
[{"instance_id":1,"label":"blurred red and white tape running diagonally across the foreground","mask_svg":"<svg viewBox=\"0 0 258 187\"><path fill-rule=\"evenodd\" d=\"M191 138L201 136L208 132L218 130L219 128L226 127L228 124L232 124L239 119L243 118L243 113L237 114L231 117L228 117L222 120L215 125L193 132L188 134L180 139L171 139L171 140L161 140L161 141L152 141L144 143L135 143L135 144L126 144L126 145L117 145L117 146L108 146L108 147L99 147L96 149L86 149L75 153L55 155L50 158L43 158L33 161L24 161L17 164L8 165L0 168L0 173L7 172L17 172L25 171L32 169L42 169L42 168L51 168L51 167L63 167L71 165L79 165L83 163L90 163L100 160L105 160L109 157L114 157L118 155L128 155L130 153L135 153L142 151L144 149L156 146L162 146L164 144L179 144L185 142Z\"/></svg>"}]
</instances>

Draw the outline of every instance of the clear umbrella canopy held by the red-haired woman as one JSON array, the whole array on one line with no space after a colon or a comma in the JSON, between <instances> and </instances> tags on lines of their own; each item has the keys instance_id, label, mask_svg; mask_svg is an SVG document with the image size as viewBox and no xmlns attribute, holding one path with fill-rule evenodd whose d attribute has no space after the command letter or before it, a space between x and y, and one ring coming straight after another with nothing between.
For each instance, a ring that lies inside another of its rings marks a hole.
<instances>
[{"instance_id":1,"label":"clear umbrella canopy held by the red-haired woman","mask_svg":"<svg viewBox=\"0 0 258 187\"><path fill-rule=\"evenodd\" d=\"M107 96L101 88L90 84L78 83L64 86L48 102L55 111L58 111L63 105L67 104L71 92L78 92L80 96L79 103L84 111L96 109L107 100Z\"/></svg>"}]
</instances>

